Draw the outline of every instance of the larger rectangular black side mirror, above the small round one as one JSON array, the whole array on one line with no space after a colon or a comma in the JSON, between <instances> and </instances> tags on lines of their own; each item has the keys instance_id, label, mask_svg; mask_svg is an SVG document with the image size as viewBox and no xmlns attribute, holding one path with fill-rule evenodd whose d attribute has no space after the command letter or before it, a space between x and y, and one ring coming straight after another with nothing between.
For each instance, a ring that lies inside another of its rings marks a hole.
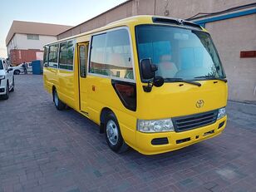
<instances>
[{"instance_id":1,"label":"larger rectangular black side mirror, above the small round one","mask_svg":"<svg viewBox=\"0 0 256 192\"><path fill-rule=\"evenodd\" d=\"M153 65L150 58L140 60L141 76L145 80L155 77L155 71L158 70L157 66Z\"/></svg>"}]
</instances>

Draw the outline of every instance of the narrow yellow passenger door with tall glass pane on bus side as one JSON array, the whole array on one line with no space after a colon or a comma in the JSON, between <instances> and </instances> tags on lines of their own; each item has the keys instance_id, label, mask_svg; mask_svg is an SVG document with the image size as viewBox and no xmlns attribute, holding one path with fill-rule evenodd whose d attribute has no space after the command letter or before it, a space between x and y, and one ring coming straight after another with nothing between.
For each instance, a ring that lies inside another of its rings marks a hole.
<instances>
[{"instance_id":1,"label":"narrow yellow passenger door with tall glass pane on bus side","mask_svg":"<svg viewBox=\"0 0 256 192\"><path fill-rule=\"evenodd\" d=\"M80 110L88 115L88 82L86 79L89 42L78 43Z\"/></svg>"}]
</instances>

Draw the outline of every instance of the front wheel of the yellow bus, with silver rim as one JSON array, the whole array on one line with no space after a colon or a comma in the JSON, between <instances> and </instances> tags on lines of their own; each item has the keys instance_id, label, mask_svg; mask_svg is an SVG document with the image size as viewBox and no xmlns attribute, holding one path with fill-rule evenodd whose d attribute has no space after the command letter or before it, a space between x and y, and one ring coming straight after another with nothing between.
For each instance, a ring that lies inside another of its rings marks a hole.
<instances>
[{"instance_id":1,"label":"front wheel of the yellow bus, with silver rim","mask_svg":"<svg viewBox=\"0 0 256 192\"><path fill-rule=\"evenodd\" d=\"M126 150L129 149L129 146L126 144L125 140L121 135L120 126L118 124L116 116L112 112L110 112L106 115L105 120L106 121L104 124L104 130L107 145L109 145L111 150L115 151L116 153L126 152ZM113 132L111 132L111 130Z\"/></svg>"}]
</instances>

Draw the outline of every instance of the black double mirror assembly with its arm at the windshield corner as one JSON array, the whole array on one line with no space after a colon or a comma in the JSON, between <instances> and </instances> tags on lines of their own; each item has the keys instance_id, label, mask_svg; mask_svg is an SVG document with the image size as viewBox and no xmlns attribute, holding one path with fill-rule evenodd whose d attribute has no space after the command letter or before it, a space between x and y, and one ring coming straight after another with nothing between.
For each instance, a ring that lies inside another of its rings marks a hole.
<instances>
[{"instance_id":1,"label":"black double mirror assembly with its arm at the windshield corner","mask_svg":"<svg viewBox=\"0 0 256 192\"><path fill-rule=\"evenodd\" d=\"M155 71L158 67L152 64L150 58L140 60L140 71L143 79L148 80L147 86L143 86L145 92L150 92L153 86L160 87L164 84L164 78L162 76L155 76Z\"/></svg>"}]
</instances>

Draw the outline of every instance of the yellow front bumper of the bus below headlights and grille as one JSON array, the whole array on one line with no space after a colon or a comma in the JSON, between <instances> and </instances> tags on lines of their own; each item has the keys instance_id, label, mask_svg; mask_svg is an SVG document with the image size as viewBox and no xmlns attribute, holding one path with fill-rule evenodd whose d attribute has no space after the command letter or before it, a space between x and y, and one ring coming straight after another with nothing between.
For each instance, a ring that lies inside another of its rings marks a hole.
<instances>
[{"instance_id":1,"label":"yellow front bumper of the bus below headlights and grille","mask_svg":"<svg viewBox=\"0 0 256 192\"><path fill-rule=\"evenodd\" d=\"M224 116L209 126L182 132L142 133L136 131L136 146L134 148L145 155L155 155L171 150L178 150L201 140L219 135L224 130L226 123L227 116ZM160 139L159 143L155 142L157 139Z\"/></svg>"}]
</instances>

